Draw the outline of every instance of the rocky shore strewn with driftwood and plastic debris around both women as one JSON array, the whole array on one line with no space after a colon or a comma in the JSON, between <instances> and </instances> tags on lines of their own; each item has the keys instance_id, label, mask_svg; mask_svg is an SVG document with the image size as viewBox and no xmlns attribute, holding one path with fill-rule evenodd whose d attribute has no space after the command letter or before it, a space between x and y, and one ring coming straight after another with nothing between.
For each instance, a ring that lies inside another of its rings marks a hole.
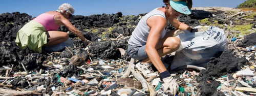
<instances>
[{"instance_id":1,"label":"rocky shore strewn with driftwood and plastic debris around both women","mask_svg":"<svg viewBox=\"0 0 256 96\"><path fill-rule=\"evenodd\" d=\"M178 18L189 26L218 26L229 41L228 49L210 58L206 69L169 71L179 84L178 95L256 94L255 16L247 17L253 14L194 10L192 15ZM135 68L137 60L125 51L127 40L144 15L122 16L118 12L75 16L71 23L92 44L83 46L69 32L74 47L61 52L35 53L15 44L18 29L32 17L19 12L1 14L0 95L174 95L163 91L164 82L159 75L144 77ZM243 24L249 25L249 29L237 29ZM169 25L167 29L175 27ZM65 26L59 30L69 31ZM168 54L163 61L171 64L173 57L173 53Z\"/></svg>"}]
</instances>

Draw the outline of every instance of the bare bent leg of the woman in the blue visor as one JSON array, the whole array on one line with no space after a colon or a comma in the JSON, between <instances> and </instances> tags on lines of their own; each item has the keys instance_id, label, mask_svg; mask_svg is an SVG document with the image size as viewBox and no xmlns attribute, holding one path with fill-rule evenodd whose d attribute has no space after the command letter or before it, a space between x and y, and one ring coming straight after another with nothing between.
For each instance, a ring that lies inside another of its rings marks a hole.
<instances>
[{"instance_id":1,"label":"bare bent leg of the woman in the blue visor","mask_svg":"<svg viewBox=\"0 0 256 96\"><path fill-rule=\"evenodd\" d=\"M180 39L177 37L173 37L174 33L176 33L178 30L171 30L166 33L164 38L160 39L158 44L156 45L157 52L159 56L164 56L169 53L172 53L179 49L180 47ZM150 58L145 58L141 61L141 63L149 63Z\"/></svg>"}]
</instances>

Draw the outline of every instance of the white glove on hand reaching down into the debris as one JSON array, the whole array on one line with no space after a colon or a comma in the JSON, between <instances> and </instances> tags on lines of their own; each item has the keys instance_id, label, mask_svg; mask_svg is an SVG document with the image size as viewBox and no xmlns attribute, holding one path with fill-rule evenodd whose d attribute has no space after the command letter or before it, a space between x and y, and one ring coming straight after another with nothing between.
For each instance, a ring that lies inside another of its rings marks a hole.
<instances>
[{"instance_id":1,"label":"white glove on hand reaching down into the debris","mask_svg":"<svg viewBox=\"0 0 256 96\"><path fill-rule=\"evenodd\" d=\"M172 76L164 78L164 92L168 92L168 88L170 88L170 93L176 95L177 90L179 90L179 85L174 81Z\"/></svg>"}]
</instances>

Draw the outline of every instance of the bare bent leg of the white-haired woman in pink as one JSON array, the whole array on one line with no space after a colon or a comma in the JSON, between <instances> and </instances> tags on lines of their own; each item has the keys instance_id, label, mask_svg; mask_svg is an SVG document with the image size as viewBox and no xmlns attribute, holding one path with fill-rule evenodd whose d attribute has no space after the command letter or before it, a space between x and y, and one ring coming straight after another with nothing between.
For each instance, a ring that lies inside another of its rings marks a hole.
<instances>
[{"instance_id":1,"label":"bare bent leg of the white-haired woman in pink","mask_svg":"<svg viewBox=\"0 0 256 96\"><path fill-rule=\"evenodd\" d=\"M69 34L63 31L48 31L48 34L50 36L48 38L50 41L44 46L60 44L69 39Z\"/></svg>"}]
</instances>

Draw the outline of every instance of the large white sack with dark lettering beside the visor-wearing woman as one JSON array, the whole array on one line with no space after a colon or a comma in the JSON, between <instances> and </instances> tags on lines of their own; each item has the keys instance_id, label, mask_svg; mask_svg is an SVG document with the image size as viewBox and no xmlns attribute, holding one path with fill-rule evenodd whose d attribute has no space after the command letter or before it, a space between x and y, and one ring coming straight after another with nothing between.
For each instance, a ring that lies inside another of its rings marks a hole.
<instances>
[{"instance_id":1,"label":"large white sack with dark lettering beside the visor-wearing woman","mask_svg":"<svg viewBox=\"0 0 256 96\"><path fill-rule=\"evenodd\" d=\"M180 30L175 35L180 38L181 46L176 51L170 70L186 65L206 67L209 58L227 49L228 39L223 29L216 26L197 26L199 32L190 33Z\"/></svg>"}]
</instances>

